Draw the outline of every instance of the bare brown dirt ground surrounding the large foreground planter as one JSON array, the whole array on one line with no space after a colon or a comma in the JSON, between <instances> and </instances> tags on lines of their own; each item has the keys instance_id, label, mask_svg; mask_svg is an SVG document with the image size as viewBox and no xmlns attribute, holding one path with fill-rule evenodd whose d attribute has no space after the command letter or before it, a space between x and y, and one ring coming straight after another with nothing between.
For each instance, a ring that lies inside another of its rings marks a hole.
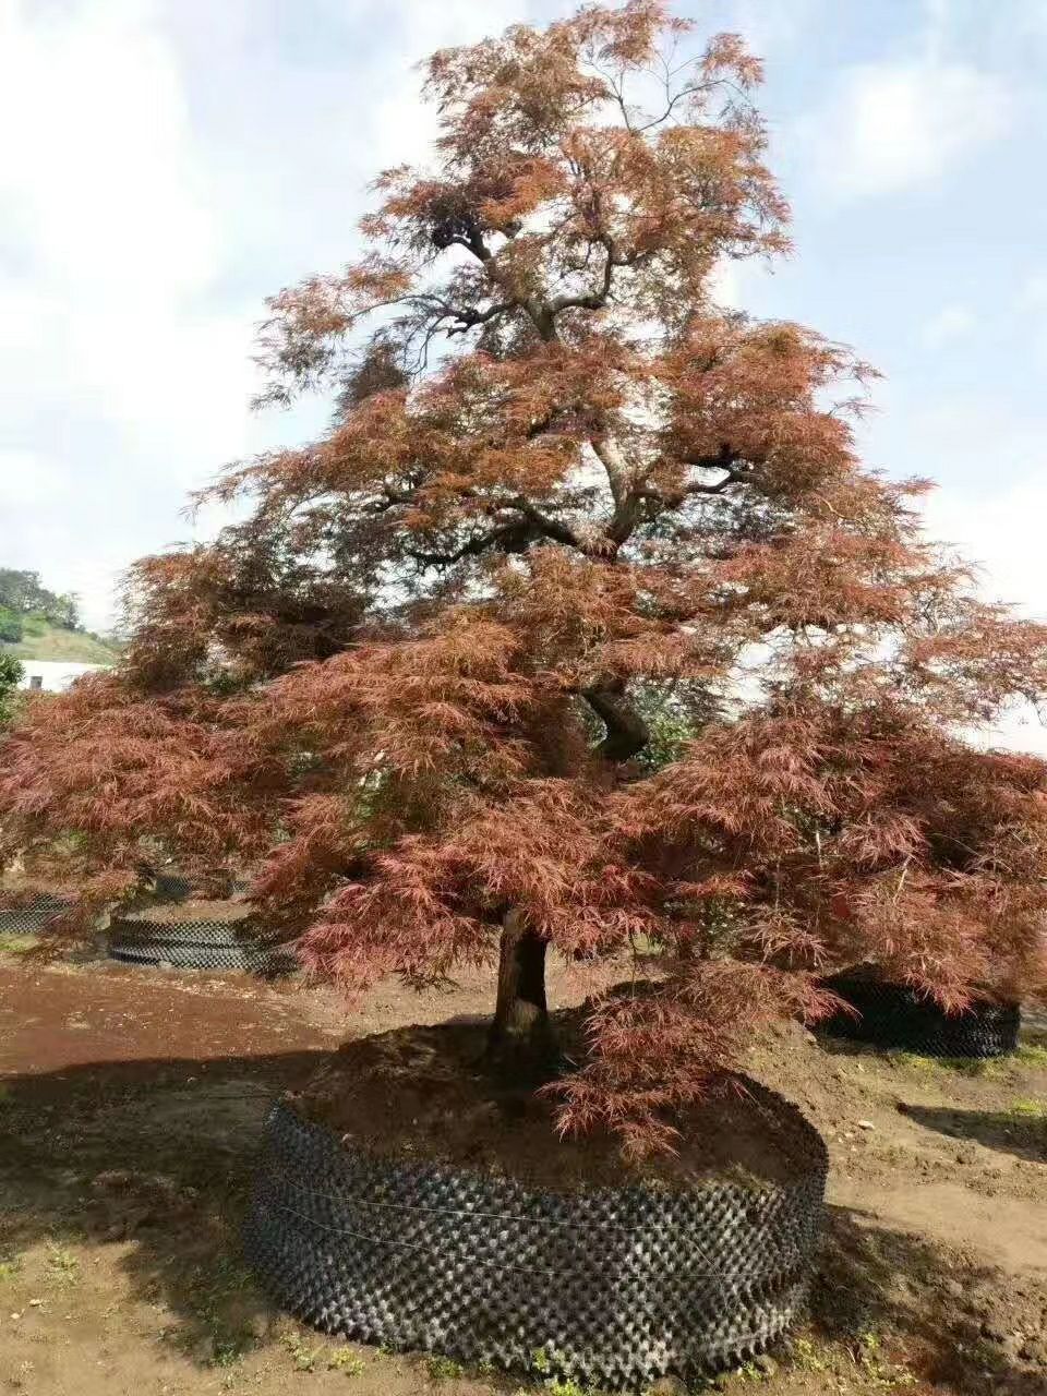
<instances>
[{"instance_id":1,"label":"bare brown dirt ground surrounding the large foreground planter","mask_svg":"<svg viewBox=\"0 0 1047 1396\"><path fill-rule=\"evenodd\" d=\"M564 972L551 997L591 987ZM487 994L388 984L346 1018L293 981L0 953L0 1392L578 1396L324 1339L239 1259L274 1093L349 1033L476 1013ZM824 1132L831 1217L807 1323L715 1388L1047 1396L1047 1023L1018 1058L963 1069L799 1027L745 1065Z\"/></svg>"}]
</instances>

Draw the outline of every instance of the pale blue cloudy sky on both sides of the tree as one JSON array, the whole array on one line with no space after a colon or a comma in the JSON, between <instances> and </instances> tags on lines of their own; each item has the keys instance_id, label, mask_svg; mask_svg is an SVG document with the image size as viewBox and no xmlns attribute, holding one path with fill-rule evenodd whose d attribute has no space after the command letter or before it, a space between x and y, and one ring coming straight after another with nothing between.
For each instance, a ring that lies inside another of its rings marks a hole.
<instances>
[{"instance_id":1,"label":"pale blue cloudy sky on both sides of the tree","mask_svg":"<svg viewBox=\"0 0 1047 1396\"><path fill-rule=\"evenodd\" d=\"M413 64L565 0L0 0L0 563L92 624L186 491L293 440L255 415L262 297L353 255L424 158ZM725 295L886 378L868 459L1047 616L1047 0L681 0L766 61L796 253ZM204 519L201 529L208 526ZM1039 743L1037 743L1039 744Z\"/></svg>"}]
</instances>

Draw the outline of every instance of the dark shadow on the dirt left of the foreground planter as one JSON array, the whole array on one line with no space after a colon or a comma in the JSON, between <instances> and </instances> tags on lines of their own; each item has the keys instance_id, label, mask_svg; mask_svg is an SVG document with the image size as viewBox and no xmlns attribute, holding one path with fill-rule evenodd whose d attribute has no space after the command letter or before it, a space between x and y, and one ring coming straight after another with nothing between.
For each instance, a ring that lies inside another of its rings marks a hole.
<instances>
[{"instance_id":1,"label":"dark shadow on the dirt left of the foreground planter","mask_svg":"<svg viewBox=\"0 0 1047 1396\"><path fill-rule=\"evenodd\" d=\"M70 1067L0 1090L0 1259L39 1241L121 1247L135 1294L201 1362L250 1347L269 1311L240 1224L274 1096L324 1051Z\"/></svg>"}]
</instances>

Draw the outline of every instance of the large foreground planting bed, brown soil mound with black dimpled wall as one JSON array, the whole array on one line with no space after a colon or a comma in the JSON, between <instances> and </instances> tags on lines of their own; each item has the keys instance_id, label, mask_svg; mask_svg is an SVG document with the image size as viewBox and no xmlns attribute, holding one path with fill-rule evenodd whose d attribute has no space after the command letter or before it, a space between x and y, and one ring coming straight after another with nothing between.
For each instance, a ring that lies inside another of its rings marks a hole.
<instances>
[{"instance_id":1,"label":"large foreground planting bed, brown soil mound with black dimpled wall","mask_svg":"<svg viewBox=\"0 0 1047 1396\"><path fill-rule=\"evenodd\" d=\"M604 1386L762 1351L801 1308L826 1152L743 1076L627 1168L497 1087L476 1025L350 1043L265 1129L246 1254L331 1333Z\"/></svg>"}]
</instances>

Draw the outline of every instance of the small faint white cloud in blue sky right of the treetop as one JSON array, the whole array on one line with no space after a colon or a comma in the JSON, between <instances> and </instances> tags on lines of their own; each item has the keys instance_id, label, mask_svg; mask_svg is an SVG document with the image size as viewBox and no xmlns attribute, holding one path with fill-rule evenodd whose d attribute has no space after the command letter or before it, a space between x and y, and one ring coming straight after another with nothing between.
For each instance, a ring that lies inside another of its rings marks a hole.
<instances>
[{"instance_id":1,"label":"small faint white cloud in blue sky right of the treetop","mask_svg":"<svg viewBox=\"0 0 1047 1396\"><path fill-rule=\"evenodd\" d=\"M801 127L822 186L840 198L930 184L1007 131L1007 82L935 57L859 64Z\"/></svg>"}]
</instances>

